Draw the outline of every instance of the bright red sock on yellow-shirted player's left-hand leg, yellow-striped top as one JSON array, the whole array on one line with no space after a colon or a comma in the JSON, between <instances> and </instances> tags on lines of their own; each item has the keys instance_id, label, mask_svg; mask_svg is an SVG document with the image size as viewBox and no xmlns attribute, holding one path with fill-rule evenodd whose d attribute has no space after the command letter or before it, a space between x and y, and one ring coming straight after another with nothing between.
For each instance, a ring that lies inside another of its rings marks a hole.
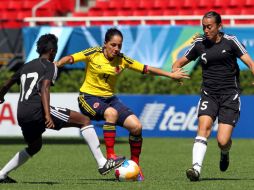
<instances>
[{"instance_id":1,"label":"bright red sock on yellow-shirted player's left-hand leg, yellow-striped top","mask_svg":"<svg viewBox=\"0 0 254 190\"><path fill-rule=\"evenodd\" d=\"M115 155L114 146L116 138L116 125L114 123L105 122L103 125L103 135L107 150L107 158Z\"/></svg>"}]
</instances>

